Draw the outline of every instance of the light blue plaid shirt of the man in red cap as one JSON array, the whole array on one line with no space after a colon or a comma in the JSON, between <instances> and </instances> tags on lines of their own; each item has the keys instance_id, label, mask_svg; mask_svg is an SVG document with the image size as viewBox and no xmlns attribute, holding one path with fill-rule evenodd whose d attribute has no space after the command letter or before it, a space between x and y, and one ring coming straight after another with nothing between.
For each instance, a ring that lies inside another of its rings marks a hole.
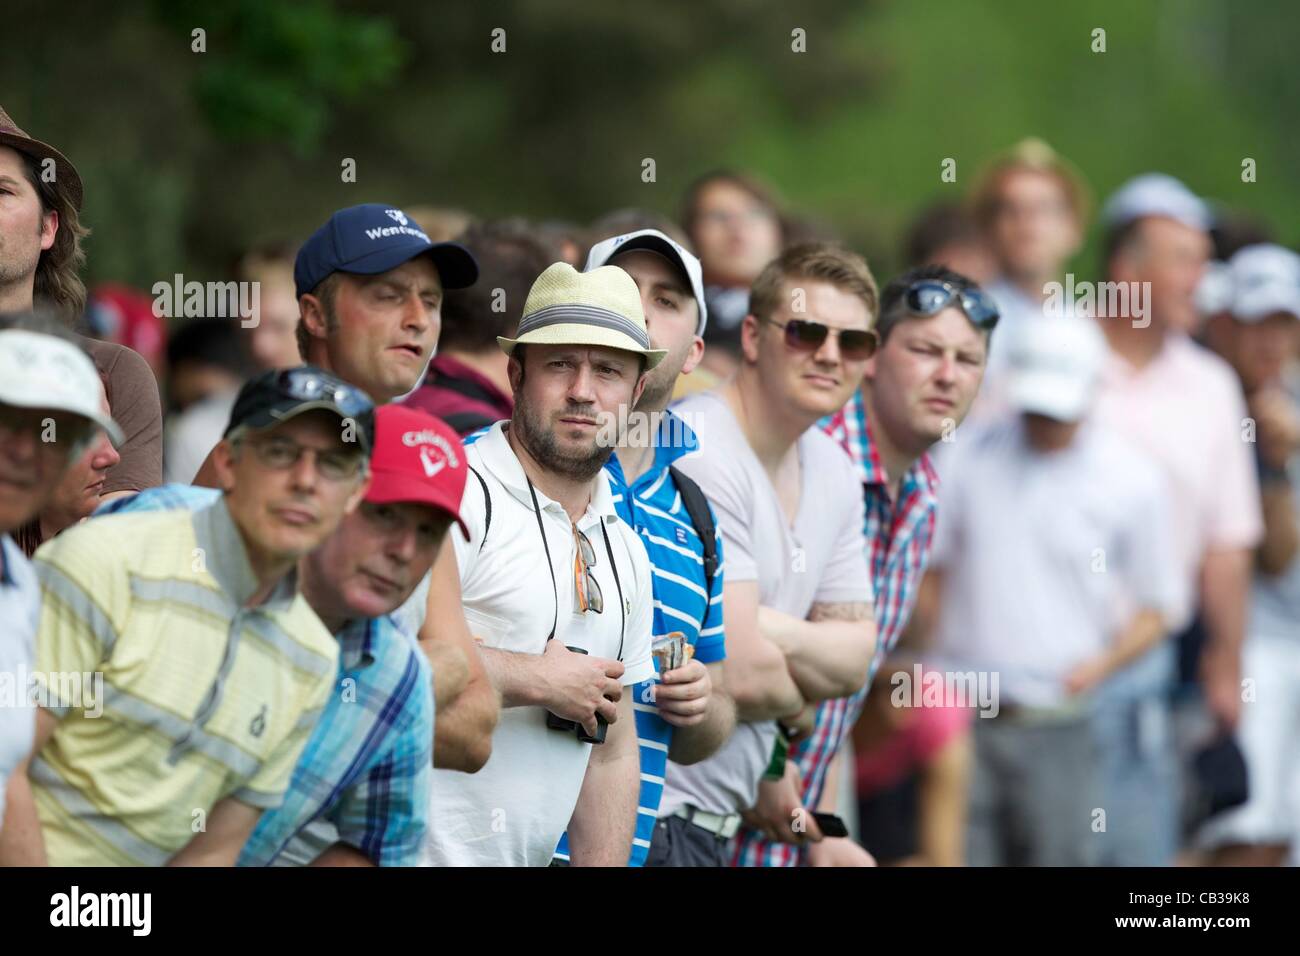
<instances>
[{"instance_id":1,"label":"light blue plaid shirt of the man in red cap","mask_svg":"<svg viewBox=\"0 0 1300 956\"><path fill-rule=\"evenodd\" d=\"M95 514L192 511L218 494L162 485L110 501ZM303 853L311 845L304 830L320 821L380 866L419 862L433 780L433 671L389 617L350 620L335 636L337 692L294 767L285 801L261 816L240 866L270 865L286 849L286 856L311 858L315 853Z\"/></svg>"}]
</instances>

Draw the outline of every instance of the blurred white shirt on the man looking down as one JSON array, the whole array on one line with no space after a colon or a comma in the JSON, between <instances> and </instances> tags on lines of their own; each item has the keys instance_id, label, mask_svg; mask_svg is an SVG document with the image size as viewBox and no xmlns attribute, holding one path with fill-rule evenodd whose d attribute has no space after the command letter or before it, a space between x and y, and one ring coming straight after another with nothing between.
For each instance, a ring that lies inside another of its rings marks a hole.
<instances>
[{"instance_id":1,"label":"blurred white shirt on the man looking down","mask_svg":"<svg viewBox=\"0 0 1300 956\"><path fill-rule=\"evenodd\" d=\"M1013 414L965 433L949 460L931 554L944 666L997 671L1004 700L1057 706L1065 676L1136 610L1178 617L1164 475L1114 432L1084 423L1043 454Z\"/></svg>"}]
</instances>

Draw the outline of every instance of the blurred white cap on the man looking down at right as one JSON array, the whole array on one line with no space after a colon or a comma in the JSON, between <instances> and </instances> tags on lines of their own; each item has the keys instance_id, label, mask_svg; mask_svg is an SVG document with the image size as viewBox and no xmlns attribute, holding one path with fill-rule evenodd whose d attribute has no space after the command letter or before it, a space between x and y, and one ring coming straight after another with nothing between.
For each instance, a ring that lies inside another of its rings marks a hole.
<instances>
[{"instance_id":1,"label":"blurred white cap on the man looking down at right","mask_svg":"<svg viewBox=\"0 0 1300 956\"><path fill-rule=\"evenodd\" d=\"M1101 381L1106 342L1091 319L1044 317L1017 329L1008 354L1011 405L1057 421L1078 421Z\"/></svg>"}]
</instances>

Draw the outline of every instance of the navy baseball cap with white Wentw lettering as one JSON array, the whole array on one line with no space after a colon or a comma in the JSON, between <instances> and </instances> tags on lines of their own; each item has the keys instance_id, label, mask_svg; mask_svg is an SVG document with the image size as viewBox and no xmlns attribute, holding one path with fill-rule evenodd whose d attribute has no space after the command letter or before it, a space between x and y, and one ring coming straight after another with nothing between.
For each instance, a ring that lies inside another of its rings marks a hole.
<instances>
[{"instance_id":1,"label":"navy baseball cap with white Wentw lettering","mask_svg":"<svg viewBox=\"0 0 1300 956\"><path fill-rule=\"evenodd\" d=\"M363 203L339 209L312 233L294 260L294 285L302 298L332 272L377 276L428 254L443 289L464 289L478 278L478 263L464 246L430 242L420 224L402 209Z\"/></svg>"}]
</instances>

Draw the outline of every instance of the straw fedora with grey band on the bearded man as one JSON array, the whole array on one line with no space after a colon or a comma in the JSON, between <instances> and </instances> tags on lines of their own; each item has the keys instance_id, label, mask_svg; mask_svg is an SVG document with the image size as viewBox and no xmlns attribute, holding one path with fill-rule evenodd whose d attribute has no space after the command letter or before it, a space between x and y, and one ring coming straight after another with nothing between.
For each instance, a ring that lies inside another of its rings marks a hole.
<instances>
[{"instance_id":1,"label":"straw fedora with grey band on the bearded man","mask_svg":"<svg viewBox=\"0 0 1300 956\"><path fill-rule=\"evenodd\" d=\"M667 349L651 349L637 284L618 265L578 272L568 263L546 268L524 303L516 338L497 338L510 355L516 345L595 345L646 356L658 365Z\"/></svg>"}]
</instances>

